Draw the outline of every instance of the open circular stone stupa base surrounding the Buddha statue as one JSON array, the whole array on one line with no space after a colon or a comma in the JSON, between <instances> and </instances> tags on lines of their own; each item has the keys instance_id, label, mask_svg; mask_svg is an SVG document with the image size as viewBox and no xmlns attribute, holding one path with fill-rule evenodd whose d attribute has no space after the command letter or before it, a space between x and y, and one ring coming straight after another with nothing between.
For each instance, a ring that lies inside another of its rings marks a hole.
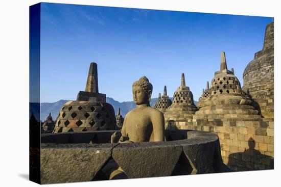
<instances>
[{"instance_id":1,"label":"open circular stone stupa base surrounding the Buddha statue","mask_svg":"<svg viewBox=\"0 0 281 187\"><path fill-rule=\"evenodd\" d=\"M125 178L230 171L215 133L166 130L166 142L110 144L114 132L41 135L41 183L106 180L119 167Z\"/></svg>"}]
</instances>

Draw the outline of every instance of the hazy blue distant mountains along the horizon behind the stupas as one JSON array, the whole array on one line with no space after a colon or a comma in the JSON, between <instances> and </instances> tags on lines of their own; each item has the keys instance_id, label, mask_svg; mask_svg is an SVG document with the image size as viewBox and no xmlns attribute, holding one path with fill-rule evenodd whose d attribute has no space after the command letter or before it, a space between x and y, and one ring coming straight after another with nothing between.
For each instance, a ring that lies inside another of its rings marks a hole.
<instances>
[{"instance_id":1,"label":"hazy blue distant mountains along the horizon behind the stupas","mask_svg":"<svg viewBox=\"0 0 281 187\"><path fill-rule=\"evenodd\" d=\"M150 101L150 105L153 106L154 103L157 101L158 98L152 98ZM173 98L170 98L173 100ZM53 120L55 120L58 116L58 113L62 106L69 100L59 100L57 102L42 102L41 103L41 117L42 121L44 121L47 116L49 116L49 113L51 113ZM106 102L110 103L115 111L115 114L117 113L118 108L120 108L120 114L124 117L129 111L135 108L135 103L133 101L124 101L124 102L119 102L115 101L111 97L106 97ZM197 101L194 101L196 104ZM30 102L30 112L34 114L35 118L38 120L39 119L39 103L35 102ZM30 113L30 114L31 114Z\"/></svg>"}]
</instances>

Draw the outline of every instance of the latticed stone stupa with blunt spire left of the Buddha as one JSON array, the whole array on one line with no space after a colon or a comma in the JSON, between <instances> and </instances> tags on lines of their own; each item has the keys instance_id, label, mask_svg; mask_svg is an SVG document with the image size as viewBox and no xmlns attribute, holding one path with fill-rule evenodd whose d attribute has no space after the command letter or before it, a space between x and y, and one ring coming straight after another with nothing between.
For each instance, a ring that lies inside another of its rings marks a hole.
<instances>
[{"instance_id":1,"label":"latticed stone stupa with blunt spire left of the Buddha","mask_svg":"<svg viewBox=\"0 0 281 187\"><path fill-rule=\"evenodd\" d=\"M97 64L91 63L85 91L78 93L77 100L64 104L53 133L113 130L115 126L114 109L106 102L106 94L99 93Z\"/></svg>"}]
</instances>

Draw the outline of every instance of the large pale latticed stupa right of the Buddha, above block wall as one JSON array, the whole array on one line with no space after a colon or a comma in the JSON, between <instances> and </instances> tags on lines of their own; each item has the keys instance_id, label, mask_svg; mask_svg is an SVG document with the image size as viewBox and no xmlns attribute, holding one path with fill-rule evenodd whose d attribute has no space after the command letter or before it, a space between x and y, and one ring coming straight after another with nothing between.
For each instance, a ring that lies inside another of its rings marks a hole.
<instances>
[{"instance_id":1,"label":"large pale latticed stupa right of the Buddha, above block wall","mask_svg":"<svg viewBox=\"0 0 281 187\"><path fill-rule=\"evenodd\" d=\"M194 119L208 119L212 121L233 118L261 118L252 104L244 96L234 70L227 69L225 53L221 52L221 69L215 72L209 89L209 96L200 103L200 110Z\"/></svg>"}]
</instances>

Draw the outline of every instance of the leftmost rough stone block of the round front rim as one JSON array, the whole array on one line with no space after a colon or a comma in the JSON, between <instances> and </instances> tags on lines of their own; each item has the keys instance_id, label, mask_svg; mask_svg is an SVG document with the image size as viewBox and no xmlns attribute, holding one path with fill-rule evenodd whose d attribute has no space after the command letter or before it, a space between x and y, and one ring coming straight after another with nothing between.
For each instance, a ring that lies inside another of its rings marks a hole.
<instances>
[{"instance_id":1,"label":"leftmost rough stone block of the round front rim","mask_svg":"<svg viewBox=\"0 0 281 187\"><path fill-rule=\"evenodd\" d=\"M41 144L41 183L90 181L116 144Z\"/></svg>"}]
</instances>

